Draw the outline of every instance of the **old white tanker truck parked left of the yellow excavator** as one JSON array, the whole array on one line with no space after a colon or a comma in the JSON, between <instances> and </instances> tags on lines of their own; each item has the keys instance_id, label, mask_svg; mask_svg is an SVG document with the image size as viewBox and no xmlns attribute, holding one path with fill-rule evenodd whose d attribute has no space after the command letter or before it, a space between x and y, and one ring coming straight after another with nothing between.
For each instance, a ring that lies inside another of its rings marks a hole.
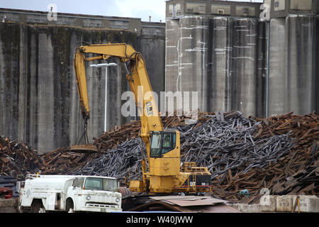
<instances>
[{"instance_id":1,"label":"old white tanker truck parked left of the yellow excavator","mask_svg":"<svg viewBox=\"0 0 319 227\"><path fill-rule=\"evenodd\" d=\"M21 183L18 187L21 212L122 211L119 183L112 177L27 175Z\"/></svg>"}]
</instances>

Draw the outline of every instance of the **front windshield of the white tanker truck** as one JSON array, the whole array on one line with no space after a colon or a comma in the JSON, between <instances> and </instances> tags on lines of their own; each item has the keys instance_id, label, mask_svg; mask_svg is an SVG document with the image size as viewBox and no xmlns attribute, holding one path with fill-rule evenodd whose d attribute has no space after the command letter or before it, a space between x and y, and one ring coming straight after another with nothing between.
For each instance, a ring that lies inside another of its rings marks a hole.
<instances>
[{"instance_id":1,"label":"front windshield of the white tanker truck","mask_svg":"<svg viewBox=\"0 0 319 227\"><path fill-rule=\"evenodd\" d=\"M94 189L102 191L116 191L117 182L116 179L105 179L105 178L96 178L88 177L86 178L84 189Z\"/></svg>"}]
</instances>

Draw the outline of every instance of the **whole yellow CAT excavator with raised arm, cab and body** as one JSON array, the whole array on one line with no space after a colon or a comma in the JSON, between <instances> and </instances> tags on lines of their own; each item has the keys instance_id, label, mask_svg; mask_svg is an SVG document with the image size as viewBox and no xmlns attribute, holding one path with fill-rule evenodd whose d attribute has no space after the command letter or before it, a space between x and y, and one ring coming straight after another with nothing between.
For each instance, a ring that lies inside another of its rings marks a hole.
<instances>
[{"instance_id":1,"label":"whole yellow CAT excavator with raised arm, cab and body","mask_svg":"<svg viewBox=\"0 0 319 227\"><path fill-rule=\"evenodd\" d=\"M94 57L86 57L88 53L94 54ZM147 194L210 192L211 173L207 167L196 167L195 162L184 162L181 165L179 131L164 131L145 60L131 45L126 43L77 45L74 70L84 121L87 121L90 114L85 63L92 60L108 60L109 57L117 57L125 64L126 77L130 89L135 94L135 104L140 114L142 125L140 138L147 150L147 160L142 155L142 180L130 181L130 191ZM148 162L148 171L146 162Z\"/></svg>"}]
</instances>

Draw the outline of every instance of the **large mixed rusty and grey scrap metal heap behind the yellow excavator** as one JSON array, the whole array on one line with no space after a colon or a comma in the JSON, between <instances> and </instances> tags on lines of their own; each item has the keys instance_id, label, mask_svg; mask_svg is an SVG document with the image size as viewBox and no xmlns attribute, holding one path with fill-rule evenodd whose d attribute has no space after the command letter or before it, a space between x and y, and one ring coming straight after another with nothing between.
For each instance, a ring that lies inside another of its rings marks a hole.
<instances>
[{"instance_id":1,"label":"large mixed rusty and grey scrap metal heap behind the yellow excavator","mask_svg":"<svg viewBox=\"0 0 319 227\"><path fill-rule=\"evenodd\" d=\"M217 198L254 203L263 188L271 194L319 195L318 114L289 113L264 119L244 118L233 111L223 117L199 113L192 125L185 124L186 120L162 117L164 128L181 132L181 162L208 167ZM40 156L35 168L42 174L139 179L141 149L145 152L139 131L140 121L116 127L94 138L99 153L80 155L61 148ZM250 196L240 196L242 189Z\"/></svg>"}]
</instances>

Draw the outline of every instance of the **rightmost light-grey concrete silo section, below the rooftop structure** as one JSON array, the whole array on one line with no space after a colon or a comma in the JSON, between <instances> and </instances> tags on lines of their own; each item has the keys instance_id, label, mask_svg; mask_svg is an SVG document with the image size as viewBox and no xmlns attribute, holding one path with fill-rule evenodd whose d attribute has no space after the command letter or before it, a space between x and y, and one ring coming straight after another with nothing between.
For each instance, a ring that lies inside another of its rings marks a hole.
<instances>
[{"instance_id":1,"label":"rightmost light-grey concrete silo section, below the rooftop structure","mask_svg":"<svg viewBox=\"0 0 319 227\"><path fill-rule=\"evenodd\" d=\"M303 15L271 20L269 116L315 111L318 103L317 20Z\"/></svg>"}]
</instances>

